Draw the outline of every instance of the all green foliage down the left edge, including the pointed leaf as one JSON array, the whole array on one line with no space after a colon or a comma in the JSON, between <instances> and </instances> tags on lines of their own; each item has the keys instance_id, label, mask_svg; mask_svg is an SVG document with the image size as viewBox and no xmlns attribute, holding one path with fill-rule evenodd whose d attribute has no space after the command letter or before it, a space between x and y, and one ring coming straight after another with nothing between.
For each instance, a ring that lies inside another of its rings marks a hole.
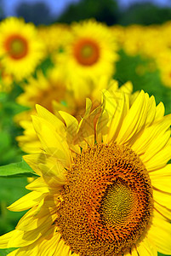
<instances>
[{"instance_id":1,"label":"all green foliage down the left edge, including the pointed leaf","mask_svg":"<svg viewBox=\"0 0 171 256\"><path fill-rule=\"evenodd\" d=\"M0 235L14 230L24 214L23 212L10 212L7 207L28 192L25 189L27 179L20 177L21 174L24 176L26 173L29 175L33 173L25 162L10 164L21 161L23 154L15 141L15 137L21 134L21 129L14 124L14 115L26 110L15 102L21 92L20 85L14 84L14 89L9 93L0 93L0 172L2 172L2 177L0 177ZM23 171L22 167L24 167ZM14 175L17 178L12 178ZM5 178L5 176L11 178ZM0 255L7 255L10 251L10 249L0 250Z\"/></svg>"}]
</instances>

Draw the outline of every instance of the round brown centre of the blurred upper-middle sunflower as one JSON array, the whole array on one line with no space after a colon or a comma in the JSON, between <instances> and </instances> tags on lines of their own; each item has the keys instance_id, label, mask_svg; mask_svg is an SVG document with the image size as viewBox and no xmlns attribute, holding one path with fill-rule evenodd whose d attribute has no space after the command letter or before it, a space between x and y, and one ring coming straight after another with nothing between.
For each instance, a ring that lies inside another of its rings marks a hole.
<instances>
[{"instance_id":1,"label":"round brown centre of the blurred upper-middle sunflower","mask_svg":"<svg viewBox=\"0 0 171 256\"><path fill-rule=\"evenodd\" d=\"M74 45L74 55L81 65L91 66L99 60L100 48L93 40L82 38Z\"/></svg>"}]
</instances>

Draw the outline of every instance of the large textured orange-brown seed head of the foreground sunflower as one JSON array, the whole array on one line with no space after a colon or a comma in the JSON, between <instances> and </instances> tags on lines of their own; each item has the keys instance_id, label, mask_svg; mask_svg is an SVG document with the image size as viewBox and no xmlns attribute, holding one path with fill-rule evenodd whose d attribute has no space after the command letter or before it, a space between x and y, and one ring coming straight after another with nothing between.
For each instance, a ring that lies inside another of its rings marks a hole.
<instances>
[{"instance_id":1,"label":"large textured orange-brown seed head of the foreground sunflower","mask_svg":"<svg viewBox=\"0 0 171 256\"><path fill-rule=\"evenodd\" d=\"M145 236L153 209L150 177L130 148L111 143L77 154L55 223L71 251L113 256Z\"/></svg>"}]
</instances>

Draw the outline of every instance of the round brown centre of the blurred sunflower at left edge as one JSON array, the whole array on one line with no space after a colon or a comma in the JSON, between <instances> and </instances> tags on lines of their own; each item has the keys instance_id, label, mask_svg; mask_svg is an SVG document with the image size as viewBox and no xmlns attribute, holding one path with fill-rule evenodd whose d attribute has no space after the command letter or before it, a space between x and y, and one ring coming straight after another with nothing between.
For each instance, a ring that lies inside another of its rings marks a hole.
<instances>
[{"instance_id":1,"label":"round brown centre of the blurred sunflower at left edge","mask_svg":"<svg viewBox=\"0 0 171 256\"><path fill-rule=\"evenodd\" d=\"M14 60L22 59L28 53L28 43L20 35L11 35L5 41L4 46L9 56Z\"/></svg>"}]
</instances>

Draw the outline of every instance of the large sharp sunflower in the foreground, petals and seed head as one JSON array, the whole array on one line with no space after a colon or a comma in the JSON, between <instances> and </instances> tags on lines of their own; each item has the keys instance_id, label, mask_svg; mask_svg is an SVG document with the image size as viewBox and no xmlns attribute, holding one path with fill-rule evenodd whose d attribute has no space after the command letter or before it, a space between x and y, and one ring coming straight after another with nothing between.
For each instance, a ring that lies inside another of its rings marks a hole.
<instances>
[{"instance_id":1,"label":"large sharp sunflower in the foreground, petals and seed head","mask_svg":"<svg viewBox=\"0 0 171 256\"><path fill-rule=\"evenodd\" d=\"M37 106L38 177L12 211L30 210L0 247L14 255L157 256L171 253L171 115L141 91L104 90L80 123Z\"/></svg>"}]
</instances>

